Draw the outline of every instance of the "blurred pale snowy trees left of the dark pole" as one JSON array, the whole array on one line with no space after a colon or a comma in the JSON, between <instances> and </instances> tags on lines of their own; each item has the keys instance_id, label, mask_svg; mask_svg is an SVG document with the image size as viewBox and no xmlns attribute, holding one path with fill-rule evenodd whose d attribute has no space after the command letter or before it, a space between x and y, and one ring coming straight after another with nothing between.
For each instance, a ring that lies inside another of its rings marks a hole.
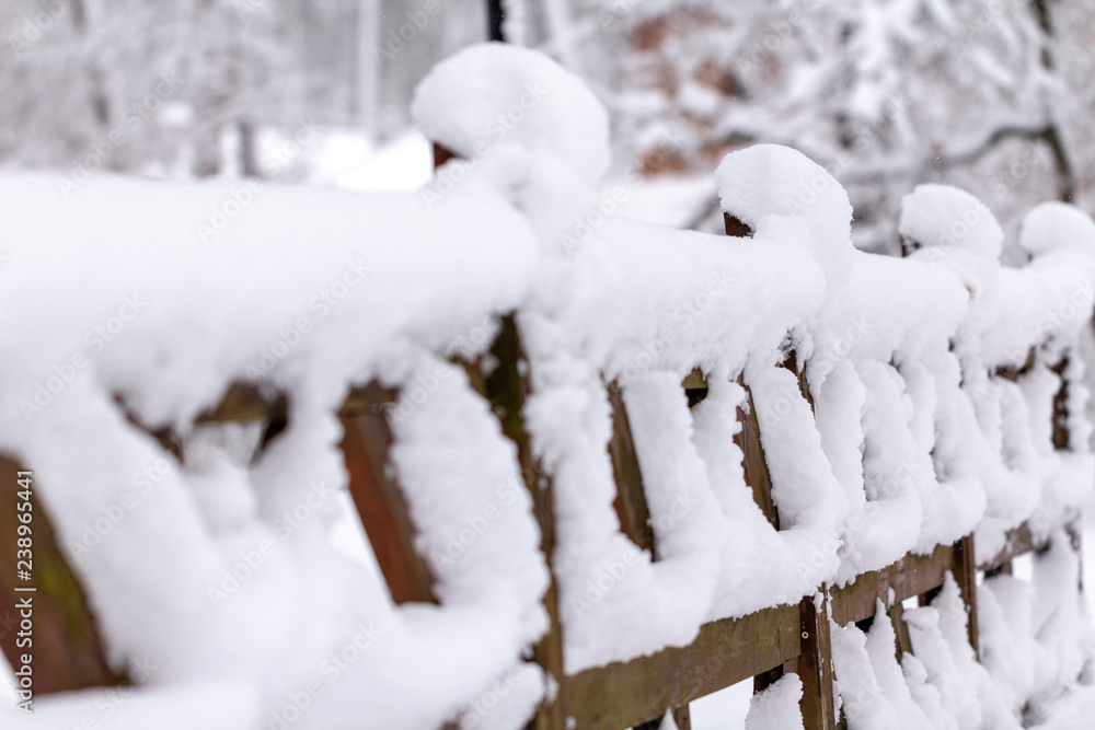
<instances>
[{"instance_id":1,"label":"blurred pale snowy trees left of the dark pole","mask_svg":"<svg viewBox=\"0 0 1095 730\"><path fill-rule=\"evenodd\" d=\"M72 177L262 174L263 130L407 124L480 0L7 0L0 163Z\"/></svg>"}]
</instances>

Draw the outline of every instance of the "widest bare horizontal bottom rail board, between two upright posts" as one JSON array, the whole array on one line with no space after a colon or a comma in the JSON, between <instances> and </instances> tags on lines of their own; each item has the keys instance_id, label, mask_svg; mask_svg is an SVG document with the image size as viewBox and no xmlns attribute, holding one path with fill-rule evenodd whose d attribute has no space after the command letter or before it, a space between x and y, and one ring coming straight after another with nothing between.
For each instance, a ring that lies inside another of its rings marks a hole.
<instances>
[{"instance_id":1,"label":"widest bare horizontal bottom rail board, between two upright posts","mask_svg":"<svg viewBox=\"0 0 1095 730\"><path fill-rule=\"evenodd\" d=\"M798 656L799 607L711 622L687 647L669 647L566 680L579 730L621 730L760 674Z\"/></svg>"}]
</instances>

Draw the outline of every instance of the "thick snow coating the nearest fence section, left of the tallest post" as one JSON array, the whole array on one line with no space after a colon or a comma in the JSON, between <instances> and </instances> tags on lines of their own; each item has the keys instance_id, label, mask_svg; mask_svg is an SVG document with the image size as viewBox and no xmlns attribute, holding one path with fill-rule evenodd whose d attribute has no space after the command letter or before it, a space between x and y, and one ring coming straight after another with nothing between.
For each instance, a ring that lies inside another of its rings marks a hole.
<instances>
[{"instance_id":1,"label":"thick snow coating the nearest fence section, left of the tallest post","mask_svg":"<svg viewBox=\"0 0 1095 730\"><path fill-rule=\"evenodd\" d=\"M439 727L499 677L528 716L539 529L512 444L439 359L482 351L528 296L537 246L505 199L113 177L64 198L19 174L0 177L0 451L32 465L117 667L254 688L246 727L295 697L300 727ZM372 379L404 386L392 459L441 606L392 605L332 544L356 519L335 414ZM233 381L290 404L250 467L208 448L180 462L119 407L186 434ZM469 514L491 529L453 549Z\"/></svg>"}]
</instances>

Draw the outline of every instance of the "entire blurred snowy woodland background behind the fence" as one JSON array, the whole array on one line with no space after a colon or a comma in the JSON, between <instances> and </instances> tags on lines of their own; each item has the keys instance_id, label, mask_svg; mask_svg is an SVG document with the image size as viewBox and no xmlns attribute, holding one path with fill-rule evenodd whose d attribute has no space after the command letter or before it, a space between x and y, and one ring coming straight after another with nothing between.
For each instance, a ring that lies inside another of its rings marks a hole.
<instances>
[{"instance_id":1,"label":"entire blurred snowy woodland background behind the fence","mask_svg":"<svg viewBox=\"0 0 1095 730\"><path fill-rule=\"evenodd\" d=\"M511 42L588 80L616 165L710 174L802 149L897 245L900 197L967 187L1012 224L1095 195L1095 7L1061 0L505 0ZM486 34L485 0L8 0L0 162L164 176L262 173L301 121L392 135L414 85ZM667 142L667 140L670 140ZM718 225L714 208L705 224Z\"/></svg>"}]
</instances>

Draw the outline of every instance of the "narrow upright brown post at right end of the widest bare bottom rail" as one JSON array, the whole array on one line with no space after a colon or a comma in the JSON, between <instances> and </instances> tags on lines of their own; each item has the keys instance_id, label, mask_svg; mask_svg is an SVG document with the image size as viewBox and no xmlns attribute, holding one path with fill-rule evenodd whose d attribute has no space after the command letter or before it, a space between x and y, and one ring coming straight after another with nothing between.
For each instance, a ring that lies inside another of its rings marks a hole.
<instances>
[{"instance_id":1,"label":"narrow upright brown post at right end of the widest bare bottom rail","mask_svg":"<svg viewBox=\"0 0 1095 730\"><path fill-rule=\"evenodd\" d=\"M802 649L796 671L803 681L803 727L805 730L835 730L829 598L825 586L817 596L803 599L799 616Z\"/></svg>"}]
</instances>

